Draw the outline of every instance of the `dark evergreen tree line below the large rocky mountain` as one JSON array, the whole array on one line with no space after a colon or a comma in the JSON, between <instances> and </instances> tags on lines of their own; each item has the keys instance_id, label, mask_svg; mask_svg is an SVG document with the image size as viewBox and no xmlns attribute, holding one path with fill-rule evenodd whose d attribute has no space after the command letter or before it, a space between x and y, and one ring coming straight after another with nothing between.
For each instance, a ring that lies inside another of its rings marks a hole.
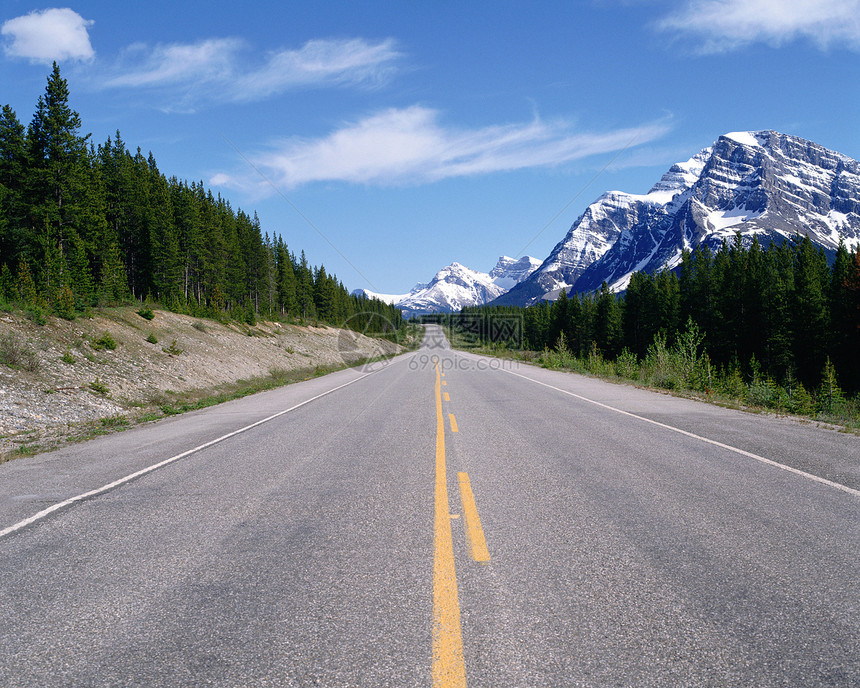
<instances>
[{"instance_id":1,"label":"dark evergreen tree line below the large rocky mountain","mask_svg":"<svg viewBox=\"0 0 860 688\"><path fill-rule=\"evenodd\" d=\"M499 327L505 318L519 324ZM638 361L655 342L671 349L692 328L715 371L813 389L831 366L842 388L857 393L860 251L840 244L830 261L808 237L765 248L738 234L716 251L685 251L676 270L635 273L623 296L604 284L527 308L464 309L452 323L485 343Z\"/></svg>"}]
</instances>

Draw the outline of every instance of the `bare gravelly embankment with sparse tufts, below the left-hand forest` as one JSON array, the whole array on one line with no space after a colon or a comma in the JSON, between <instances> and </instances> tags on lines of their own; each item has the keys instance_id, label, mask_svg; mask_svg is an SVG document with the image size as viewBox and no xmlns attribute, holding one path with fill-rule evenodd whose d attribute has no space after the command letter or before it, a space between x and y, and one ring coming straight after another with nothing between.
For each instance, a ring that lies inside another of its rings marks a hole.
<instances>
[{"instance_id":1,"label":"bare gravelly embankment with sparse tufts, below the left-hand forest","mask_svg":"<svg viewBox=\"0 0 860 688\"><path fill-rule=\"evenodd\" d=\"M403 350L328 326L154 314L146 320L130 307L101 309L44 325L0 314L0 461L60 446L88 428L123 427L182 395L214 395L285 371L310 376ZM116 347L101 346L103 338Z\"/></svg>"}]
</instances>

